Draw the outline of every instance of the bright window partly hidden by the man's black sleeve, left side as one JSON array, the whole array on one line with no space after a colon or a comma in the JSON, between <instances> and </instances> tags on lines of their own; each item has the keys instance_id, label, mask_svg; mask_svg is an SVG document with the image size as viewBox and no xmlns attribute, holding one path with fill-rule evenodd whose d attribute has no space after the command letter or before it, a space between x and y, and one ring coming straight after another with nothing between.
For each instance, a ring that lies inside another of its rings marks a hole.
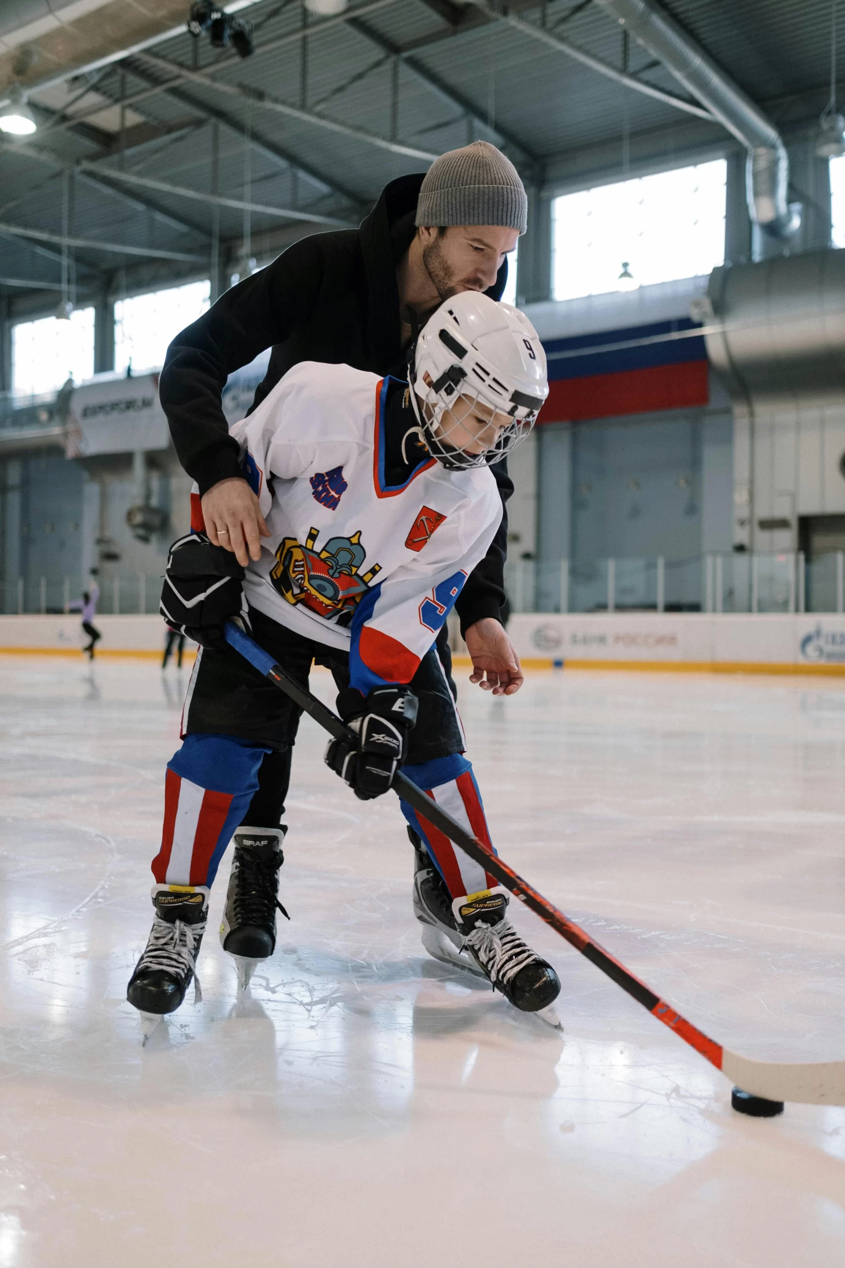
<instances>
[{"instance_id":1,"label":"bright window partly hidden by the man's black sleeve, left side","mask_svg":"<svg viewBox=\"0 0 845 1268\"><path fill-rule=\"evenodd\" d=\"M204 312L210 299L209 281L133 295L114 306L114 368L149 370L165 364L167 345L180 330Z\"/></svg>"}]
</instances>

